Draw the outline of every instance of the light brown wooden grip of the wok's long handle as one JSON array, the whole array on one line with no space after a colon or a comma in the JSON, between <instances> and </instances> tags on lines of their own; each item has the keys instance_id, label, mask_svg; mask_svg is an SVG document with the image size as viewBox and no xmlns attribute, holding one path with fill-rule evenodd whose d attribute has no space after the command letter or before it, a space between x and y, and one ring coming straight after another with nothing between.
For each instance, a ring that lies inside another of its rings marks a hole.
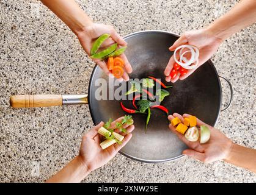
<instances>
[{"instance_id":1,"label":"light brown wooden grip of the wok's long handle","mask_svg":"<svg viewBox=\"0 0 256 195\"><path fill-rule=\"evenodd\" d=\"M13 108L35 108L62 105L62 95L37 94L10 97L10 106Z\"/></svg>"}]
</instances>

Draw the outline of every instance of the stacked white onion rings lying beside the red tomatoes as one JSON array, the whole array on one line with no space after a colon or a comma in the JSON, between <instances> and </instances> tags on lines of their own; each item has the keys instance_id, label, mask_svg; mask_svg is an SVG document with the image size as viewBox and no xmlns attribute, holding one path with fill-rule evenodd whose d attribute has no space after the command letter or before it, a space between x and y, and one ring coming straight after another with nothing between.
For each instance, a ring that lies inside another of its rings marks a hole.
<instances>
[{"instance_id":1,"label":"stacked white onion rings lying beside the red tomatoes","mask_svg":"<svg viewBox=\"0 0 256 195\"><path fill-rule=\"evenodd\" d=\"M183 52L184 48L188 48L189 50ZM179 49L180 49L180 60L177 60L176 52ZM189 60L186 59L186 57L184 57L184 55L188 52L191 53L191 58ZM182 66L185 69L197 68L198 63L199 63L199 49L196 46L192 46L189 44L184 44L184 45L178 46L178 48L176 48L174 51L174 60L178 65ZM183 63L183 62L185 62L185 63ZM195 63L195 64L192 65L193 63Z\"/></svg>"}]
</instances>

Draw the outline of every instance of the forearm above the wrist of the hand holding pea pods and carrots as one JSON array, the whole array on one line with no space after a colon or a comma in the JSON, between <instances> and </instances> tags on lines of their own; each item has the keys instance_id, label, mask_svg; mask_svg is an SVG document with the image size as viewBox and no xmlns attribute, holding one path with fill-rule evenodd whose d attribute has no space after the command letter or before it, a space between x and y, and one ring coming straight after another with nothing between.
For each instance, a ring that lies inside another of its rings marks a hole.
<instances>
[{"instance_id":1,"label":"forearm above the wrist of the hand holding pea pods and carrots","mask_svg":"<svg viewBox=\"0 0 256 195\"><path fill-rule=\"evenodd\" d=\"M92 19L76 4L75 0L41 0L77 35Z\"/></svg>"}]
</instances>

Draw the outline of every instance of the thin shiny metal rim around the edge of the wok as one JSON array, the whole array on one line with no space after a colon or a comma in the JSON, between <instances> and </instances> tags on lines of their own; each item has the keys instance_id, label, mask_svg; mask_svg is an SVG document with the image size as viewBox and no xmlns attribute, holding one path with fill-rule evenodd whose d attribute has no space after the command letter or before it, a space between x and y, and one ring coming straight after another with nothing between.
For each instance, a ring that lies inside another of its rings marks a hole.
<instances>
[{"instance_id":1,"label":"thin shiny metal rim around the edge of the wok","mask_svg":"<svg viewBox=\"0 0 256 195\"><path fill-rule=\"evenodd\" d=\"M152 32L160 32L160 33L163 33L163 34L169 34L169 35L173 35L175 37L180 37L180 35L178 34L175 34L173 32L167 32L167 31L164 31L164 30L141 30L141 31L137 31L137 32L134 32L132 34L129 34L129 35L126 35L125 37L123 37L123 39L125 40L126 38L130 38L130 37L133 37L134 35L137 35L137 34L144 34L144 33L152 33ZM213 126L216 126L216 124L218 123L218 119L219 119L219 115L221 113L221 105L222 105L222 87L221 87L221 80L219 79L219 74L217 72L217 69L215 68L215 66L213 65L213 62L211 62L211 60L207 60L208 63L210 63L211 65L211 68L213 68L214 70L214 73L216 73L216 76L217 76L217 80L218 80L218 83L219 83L219 91L220 91L220 104L219 104L219 107L218 107L218 115L214 121L214 125ZM205 62L205 63L207 63ZM93 80L93 77L95 76L95 71L97 69L98 65L95 64L95 66L93 67L93 70L92 70L92 74L90 76L90 81L89 81L89 88L88 88L88 104L89 104L89 110L90 110L90 116L92 118L92 122L94 125L96 125L96 122L95 122L95 117L93 116L93 110L92 110L92 105L90 103L91 99L90 99L90 91L91 91L91 88L92 88L92 80ZM136 161L141 161L143 163L164 163L164 162L169 162L169 161L174 161L174 160L178 160L179 158L182 158L184 157L185 155L184 154L181 154L181 155L178 155L177 157L174 157L174 158L167 158L167 159L163 159L163 160L146 160L146 159L143 159L143 158L138 158L138 157L133 157L132 155L129 155L129 154L126 154L125 152L122 152L122 151L119 151L120 154L124 155L125 157L128 157L128 158L131 158L133 160L136 160Z\"/></svg>"}]
</instances>

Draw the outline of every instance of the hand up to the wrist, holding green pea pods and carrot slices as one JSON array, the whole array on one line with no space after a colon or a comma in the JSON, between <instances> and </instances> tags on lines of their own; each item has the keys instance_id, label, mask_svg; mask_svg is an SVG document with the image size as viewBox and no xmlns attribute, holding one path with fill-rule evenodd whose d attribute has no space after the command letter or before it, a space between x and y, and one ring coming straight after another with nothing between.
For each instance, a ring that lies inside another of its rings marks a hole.
<instances>
[{"instance_id":1,"label":"hand up to the wrist, holding green pea pods and carrot slices","mask_svg":"<svg viewBox=\"0 0 256 195\"><path fill-rule=\"evenodd\" d=\"M106 25L106 24L95 24L91 23L89 26L87 26L84 30L79 32L78 39L82 45L82 48L84 48L84 51L90 56L90 49L92 49L92 45L94 41L100 37L102 34L110 34L111 37L109 37L104 43L101 45L100 49L107 48L113 43L117 43L119 46L126 46L127 43L123 40L122 37L120 37L119 34L115 31L115 29L112 26ZM120 57L125 62L125 73L123 73L122 78L119 80L129 80L128 74L130 74L133 69L131 68L130 63L128 62L125 54L121 54ZM104 60L100 59L92 59L97 65L100 66L100 68L106 73L107 75L114 77L108 70L106 62ZM128 73L128 74L127 74Z\"/></svg>"}]
</instances>

